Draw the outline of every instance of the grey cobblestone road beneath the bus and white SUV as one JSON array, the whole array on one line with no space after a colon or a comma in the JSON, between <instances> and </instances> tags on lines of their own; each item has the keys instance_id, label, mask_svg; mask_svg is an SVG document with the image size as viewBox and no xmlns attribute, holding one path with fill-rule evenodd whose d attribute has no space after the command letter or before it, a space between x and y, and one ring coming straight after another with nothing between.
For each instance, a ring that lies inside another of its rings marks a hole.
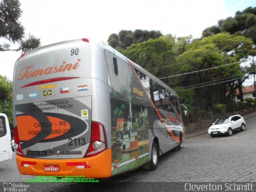
<instances>
[{"instance_id":1,"label":"grey cobblestone road beneath the bus and white SUV","mask_svg":"<svg viewBox=\"0 0 256 192\"><path fill-rule=\"evenodd\" d=\"M0 162L0 182L29 178L37 177L19 174L15 156ZM201 134L186 139L180 151L160 157L155 171L139 169L94 184L29 183L27 191L170 191L173 186L164 182L256 182L256 116L246 119L245 131L230 137Z\"/></svg>"}]
</instances>

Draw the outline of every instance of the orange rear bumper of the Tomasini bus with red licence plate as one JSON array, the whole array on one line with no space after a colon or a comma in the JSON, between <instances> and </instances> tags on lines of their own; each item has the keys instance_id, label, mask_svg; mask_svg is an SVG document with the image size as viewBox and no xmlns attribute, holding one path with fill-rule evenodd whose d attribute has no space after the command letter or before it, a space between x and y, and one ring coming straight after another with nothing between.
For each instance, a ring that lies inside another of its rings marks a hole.
<instances>
[{"instance_id":1,"label":"orange rear bumper of the Tomasini bus with red licence plate","mask_svg":"<svg viewBox=\"0 0 256 192\"><path fill-rule=\"evenodd\" d=\"M106 178L111 176L111 149L88 157L76 159L25 158L16 154L18 170L24 175L73 176L85 178ZM45 167L52 167L50 168Z\"/></svg>"}]
</instances>

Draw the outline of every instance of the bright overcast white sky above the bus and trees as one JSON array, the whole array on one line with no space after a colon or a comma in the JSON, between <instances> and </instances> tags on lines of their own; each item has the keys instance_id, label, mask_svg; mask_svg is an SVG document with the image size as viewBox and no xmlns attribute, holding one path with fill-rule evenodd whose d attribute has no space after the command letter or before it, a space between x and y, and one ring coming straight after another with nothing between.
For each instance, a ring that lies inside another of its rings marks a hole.
<instances>
[{"instance_id":1,"label":"bright overcast white sky above the bus and trees","mask_svg":"<svg viewBox=\"0 0 256 192\"><path fill-rule=\"evenodd\" d=\"M26 36L41 46L79 38L107 42L120 30L160 30L176 37L192 35L256 6L256 0L20 0ZM0 39L0 43L3 39ZM15 48L15 45L12 47ZM0 75L13 78L20 52L0 52Z\"/></svg>"}]
</instances>

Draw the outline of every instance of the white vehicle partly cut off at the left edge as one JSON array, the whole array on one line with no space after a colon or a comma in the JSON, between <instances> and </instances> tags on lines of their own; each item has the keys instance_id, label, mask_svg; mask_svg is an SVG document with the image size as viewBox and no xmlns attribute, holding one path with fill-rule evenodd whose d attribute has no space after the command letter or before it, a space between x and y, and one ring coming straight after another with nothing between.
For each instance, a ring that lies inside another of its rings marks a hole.
<instances>
[{"instance_id":1,"label":"white vehicle partly cut off at the left edge","mask_svg":"<svg viewBox=\"0 0 256 192\"><path fill-rule=\"evenodd\" d=\"M12 158L11 131L6 114L0 113L0 162Z\"/></svg>"}]
</instances>

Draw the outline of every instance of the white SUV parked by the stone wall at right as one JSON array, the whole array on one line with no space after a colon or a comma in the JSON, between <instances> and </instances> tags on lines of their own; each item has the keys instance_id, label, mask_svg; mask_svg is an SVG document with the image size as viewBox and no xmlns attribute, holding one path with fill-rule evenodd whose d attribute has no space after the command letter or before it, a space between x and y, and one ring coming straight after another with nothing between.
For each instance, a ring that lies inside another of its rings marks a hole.
<instances>
[{"instance_id":1,"label":"white SUV parked by the stone wall at right","mask_svg":"<svg viewBox=\"0 0 256 192\"><path fill-rule=\"evenodd\" d=\"M226 134L231 136L234 130L245 130L245 120L240 115L224 116L216 120L208 129L210 136Z\"/></svg>"}]
</instances>

